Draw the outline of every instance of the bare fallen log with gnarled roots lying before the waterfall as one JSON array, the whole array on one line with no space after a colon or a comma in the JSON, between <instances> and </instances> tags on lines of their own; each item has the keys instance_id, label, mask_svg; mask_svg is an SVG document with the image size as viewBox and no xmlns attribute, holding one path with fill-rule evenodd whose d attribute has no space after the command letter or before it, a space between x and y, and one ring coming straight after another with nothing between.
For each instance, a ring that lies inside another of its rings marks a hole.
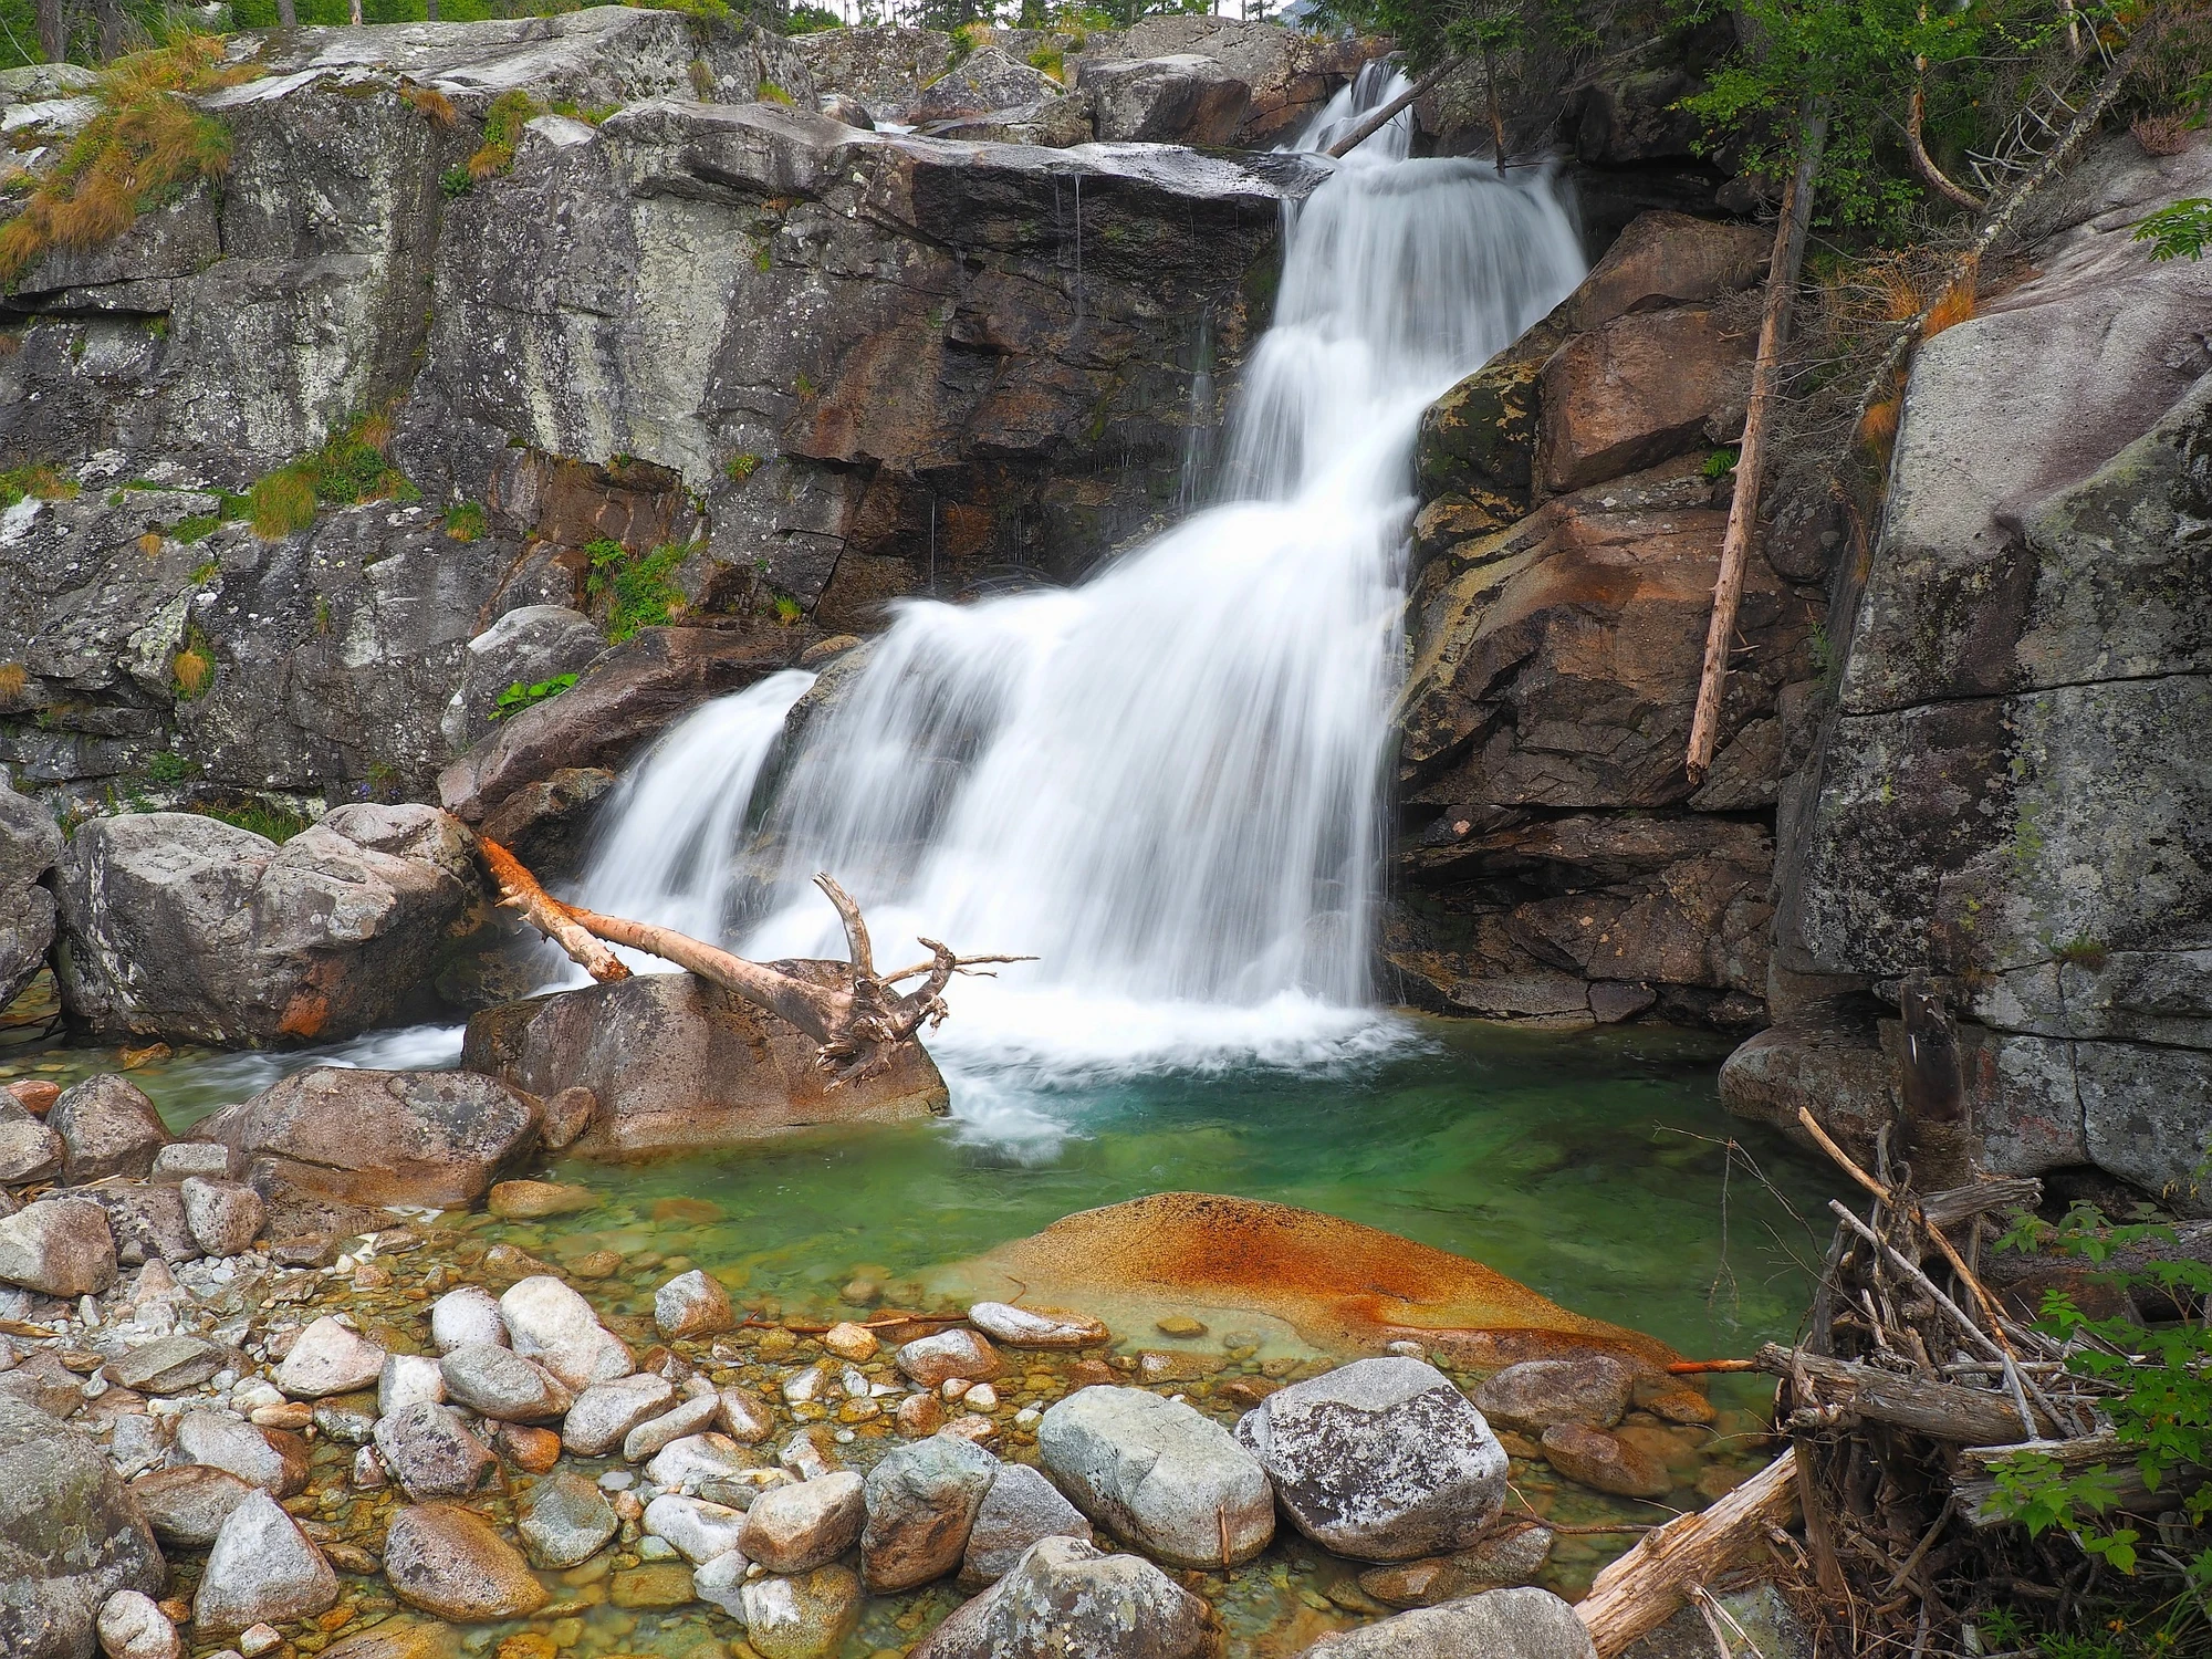
<instances>
[{"instance_id":1,"label":"bare fallen log with gnarled roots lying before the waterfall","mask_svg":"<svg viewBox=\"0 0 2212 1659\"><path fill-rule=\"evenodd\" d=\"M814 885L836 907L852 960L836 964L845 969L838 975L841 984L818 984L796 973L783 973L772 962L752 962L706 940L695 940L672 927L564 905L507 847L482 838L478 847L482 847L484 867L500 887L500 902L522 911L531 927L560 945L568 960L595 980L622 980L630 973L599 940L675 962L814 1037L816 1064L836 1073L832 1086L880 1075L891 1066L900 1044L914 1042L925 1024L940 1024L947 1013L942 991L956 973L975 973L984 962L1035 960L1031 956L956 956L949 945L925 938L922 945L929 947L931 960L896 973L878 973L860 907L836 880L823 874L814 878ZM914 978L922 980L914 991L896 989L902 980Z\"/></svg>"}]
</instances>

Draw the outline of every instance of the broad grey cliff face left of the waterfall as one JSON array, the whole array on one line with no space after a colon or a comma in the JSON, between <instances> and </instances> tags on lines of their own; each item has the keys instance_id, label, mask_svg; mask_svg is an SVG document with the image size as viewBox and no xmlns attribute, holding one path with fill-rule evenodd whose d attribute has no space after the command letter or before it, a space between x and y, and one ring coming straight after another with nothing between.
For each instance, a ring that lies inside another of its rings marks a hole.
<instances>
[{"instance_id":1,"label":"broad grey cliff face left of the waterfall","mask_svg":"<svg viewBox=\"0 0 2212 1659\"><path fill-rule=\"evenodd\" d=\"M1079 573L1172 500L1201 319L1232 372L1318 179L858 131L790 42L677 13L228 53L261 73L201 100L221 190L0 296L0 469L75 487L0 518L0 761L77 807L429 799L520 606L781 622L765 670L905 593ZM502 95L535 115L471 173ZM93 115L9 128L38 168ZM361 442L383 480L243 522Z\"/></svg>"}]
</instances>

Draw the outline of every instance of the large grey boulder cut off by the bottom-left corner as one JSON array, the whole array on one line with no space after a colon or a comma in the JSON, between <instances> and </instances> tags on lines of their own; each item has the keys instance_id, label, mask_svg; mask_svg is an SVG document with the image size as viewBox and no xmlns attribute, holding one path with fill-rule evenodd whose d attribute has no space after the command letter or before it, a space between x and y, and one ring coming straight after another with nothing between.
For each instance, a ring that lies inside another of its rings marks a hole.
<instances>
[{"instance_id":1,"label":"large grey boulder cut off by the bottom-left corner","mask_svg":"<svg viewBox=\"0 0 2212 1659\"><path fill-rule=\"evenodd\" d=\"M159 1595L161 1551L100 1447L0 1396L0 1652L84 1659L117 1590Z\"/></svg>"}]
</instances>

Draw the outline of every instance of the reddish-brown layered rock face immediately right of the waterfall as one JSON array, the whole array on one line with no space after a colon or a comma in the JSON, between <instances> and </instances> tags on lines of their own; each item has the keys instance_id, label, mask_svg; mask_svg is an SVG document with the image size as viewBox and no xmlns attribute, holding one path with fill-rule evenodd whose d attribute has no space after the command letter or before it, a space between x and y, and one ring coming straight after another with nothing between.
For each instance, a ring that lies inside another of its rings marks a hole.
<instances>
[{"instance_id":1,"label":"reddish-brown layered rock face immediately right of the waterfall","mask_svg":"<svg viewBox=\"0 0 2212 1659\"><path fill-rule=\"evenodd\" d=\"M1763 243L1646 215L1427 416L1385 922L1416 1002L1544 1024L1761 1018L1816 591L1754 566L1701 790L1683 754Z\"/></svg>"}]
</instances>

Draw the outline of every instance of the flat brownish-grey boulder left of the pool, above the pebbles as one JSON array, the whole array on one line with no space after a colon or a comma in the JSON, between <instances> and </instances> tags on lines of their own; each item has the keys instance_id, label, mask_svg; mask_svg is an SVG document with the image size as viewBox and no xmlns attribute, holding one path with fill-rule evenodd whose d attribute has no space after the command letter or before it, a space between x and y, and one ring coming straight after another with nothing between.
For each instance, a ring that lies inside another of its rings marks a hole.
<instances>
[{"instance_id":1,"label":"flat brownish-grey boulder left of the pool, above the pebbles","mask_svg":"<svg viewBox=\"0 0 2212 1659\"><path fill-rule=\"evenodd\" d=\"M254 1186L453 1208L520 1172L538 1117L531 1095L476 1073L312 1066L195 1133L239 1152Z\"/></svg>"}]
</instances>

